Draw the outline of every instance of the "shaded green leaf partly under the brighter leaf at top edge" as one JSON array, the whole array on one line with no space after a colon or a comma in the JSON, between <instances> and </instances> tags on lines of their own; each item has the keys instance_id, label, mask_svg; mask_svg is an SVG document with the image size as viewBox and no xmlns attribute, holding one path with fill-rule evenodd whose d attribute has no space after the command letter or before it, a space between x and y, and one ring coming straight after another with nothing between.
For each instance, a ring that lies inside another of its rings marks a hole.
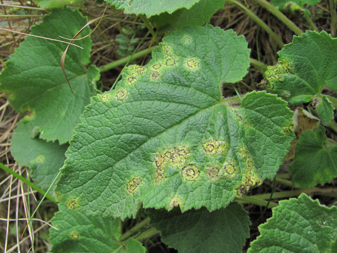
<instances>
[{"instance_id":1,"label":"shaded green leaf partly under the brighter leaf at top edge","mask_svg":"<svg viewBox=\"0 0 337 253\"><path fill-rule=\"evenodd\" d=\"M216 10L223 8L225 0L200 0L190 9L181 8L168 14L167 12L160 15L152 16L150 21L161 27L161 30L174 31L179 30L186 24L202 26L210 21Z\"/></svg>"}]
</instances>

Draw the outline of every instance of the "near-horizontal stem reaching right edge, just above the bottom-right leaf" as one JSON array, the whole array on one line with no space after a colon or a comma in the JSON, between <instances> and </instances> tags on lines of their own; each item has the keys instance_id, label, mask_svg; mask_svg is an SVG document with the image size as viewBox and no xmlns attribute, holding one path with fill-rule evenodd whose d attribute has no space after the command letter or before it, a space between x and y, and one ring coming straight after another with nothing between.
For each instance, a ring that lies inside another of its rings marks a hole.
<instances>
[{"instance_id":1,"label":"near-horizontal stem reaching right edge, just above the bottom-right leaf","mask_svg":"<svg viewBox=\"0 0 337 253\"><path fill-rule=\"evenodd\" d=\"M321 188L312 187L312 188L298 189L298 190L292 190L292 191L274 192L273 199L274 198L297 197L301 193L306 193L306 194L337 193L337 189L331 189L331 188L321 189ZM270 193L266 193L266 194L254 195L254 198L268 199L269 196L270 196Z\"/></svg>"}]
</instances>

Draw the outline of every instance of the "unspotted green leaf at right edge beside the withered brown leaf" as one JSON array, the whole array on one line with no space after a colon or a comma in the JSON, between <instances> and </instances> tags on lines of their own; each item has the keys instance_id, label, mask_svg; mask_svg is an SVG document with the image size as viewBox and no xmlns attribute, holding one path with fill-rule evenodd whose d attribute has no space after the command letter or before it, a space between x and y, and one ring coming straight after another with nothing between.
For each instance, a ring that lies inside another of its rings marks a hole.
<instances>
[{"instance_id":1,"label":"unspotted green leaf at right edge beside the withered brown leaf","mask_svg":"<svg viewBox=\"0 0 337 253\"><path fill-rule=\"evenodd\" d=\"M325 128L318 126L301 134L289 172L297 187L325 184L337 177L337 145L327 141Z\"/></svg>"}]
</instances>

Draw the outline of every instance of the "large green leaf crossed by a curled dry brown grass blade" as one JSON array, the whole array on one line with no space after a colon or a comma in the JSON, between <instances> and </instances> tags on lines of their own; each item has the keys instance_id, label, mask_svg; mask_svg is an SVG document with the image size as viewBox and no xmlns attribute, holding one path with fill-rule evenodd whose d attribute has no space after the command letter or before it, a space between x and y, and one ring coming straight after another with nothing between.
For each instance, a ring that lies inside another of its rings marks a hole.
<instances>
[{"instance_id":1,"label":"large green leaf crossed by a curled dry brown grass blade","mask_svg":"<svg viewBox=\"0 0 337 253\"><path fill-rule=\"evenodd\" d=\"M43 21L32 27L32 34L53 39L72 38L85 24L76 9L54 9ZM85 28L81 36L90 32ZM89 63L91 40L76 40L84 49L70 46L65 58L65 71L72 94L63 75L60 61L67 46L65 43L27 36L6 62L0 75L0 90L5 92L10 105L26 113L26 121L47 141L59 140L61 144L71 139L79 116L96 94L94 80L99 72Z\"/></svg>"}]
</instances>

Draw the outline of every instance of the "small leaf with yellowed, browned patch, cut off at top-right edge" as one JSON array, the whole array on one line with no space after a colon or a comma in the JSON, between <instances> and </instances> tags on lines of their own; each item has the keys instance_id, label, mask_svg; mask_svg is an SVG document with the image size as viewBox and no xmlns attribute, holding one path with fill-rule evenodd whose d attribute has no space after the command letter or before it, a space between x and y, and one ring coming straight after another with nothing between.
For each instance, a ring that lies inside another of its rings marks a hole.
<instances>
[{"instance_id":1,"label":"small leaf with yellowed, browned patch, cut off at top-right edge","mask_svg":"<svg viewBox=\"0 0 337 253\"><path fill-rule=\"evenodd\" d=\"M293 14L306 16L310 15L310 11L304 8L305 4L314 5L321 0L272 0L270 3L277 7L280 11L290 11Z\"/></svg>"}]
</instances>

